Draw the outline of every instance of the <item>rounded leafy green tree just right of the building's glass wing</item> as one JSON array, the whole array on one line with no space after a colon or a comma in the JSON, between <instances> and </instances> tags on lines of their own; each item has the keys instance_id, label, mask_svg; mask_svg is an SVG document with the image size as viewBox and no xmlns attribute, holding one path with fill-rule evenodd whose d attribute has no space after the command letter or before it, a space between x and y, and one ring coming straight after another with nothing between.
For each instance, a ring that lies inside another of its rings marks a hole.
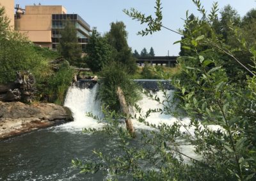
<instances>
[{"instance_id":1,"label":"rounded leafy green tree just right of the building's glass wing","mask_svg":"<svg viewBox=\"0 0 256 181\"><path fill-rule=\"evenodd\" d=\"M106 38L102 37L96 28L92 29L92 36L86 45L86 64L92 71L100 71L104 64L113 61L115 49L108 44Z\"/></svg>"}]
</instances>

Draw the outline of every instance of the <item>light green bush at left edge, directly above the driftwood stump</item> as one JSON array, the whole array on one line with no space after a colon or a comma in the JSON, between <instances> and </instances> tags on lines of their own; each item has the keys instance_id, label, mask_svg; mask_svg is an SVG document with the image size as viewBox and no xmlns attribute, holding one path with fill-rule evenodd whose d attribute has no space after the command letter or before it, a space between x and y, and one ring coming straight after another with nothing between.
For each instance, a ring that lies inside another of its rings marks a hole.
<instances>
[{"instance_id":1,"label":"light green bush at left edge, directly above the driftwood stump","mask_svg":"<svg viewBox=\"0 0 256 181\"><path fill-rule=\"evenodd\" d=\"M0 83L12 82L17 71L30 71L37 81L49 71L45 59L40 57L34 45L21 34L9 29L9 20L0 7Z\"/></svg>"}]
</instances>

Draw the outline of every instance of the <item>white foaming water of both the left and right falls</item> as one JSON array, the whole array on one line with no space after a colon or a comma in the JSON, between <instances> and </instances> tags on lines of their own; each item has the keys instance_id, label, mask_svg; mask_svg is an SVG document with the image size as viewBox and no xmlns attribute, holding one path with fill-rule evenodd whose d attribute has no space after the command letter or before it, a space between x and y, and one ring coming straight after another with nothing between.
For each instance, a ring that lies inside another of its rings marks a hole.
<instances>
[{"instance_id":1,"label":"white foaming water of both the left and right falls","mask_svg":"<svg viewBox=\"0 0 256 181\"><path fill-rule=\"evenodd\" d=\"M76 86L72 86L68 89L67 96L65 99L65 106L70 108L72 111L74 122L69 122L67 124L63 124L58 127L58 129L65 130L65 131L81 131L83 128L95 128L100 129L104 126L104 124L97 122L97 120L93 119L92 117L86 116L86 113L90 112L93 115L97 115L98 117L102 117L102 112L100 111L100 101L95 99L97 95L97 90L99 89L99 85L96 84L92 89L81 89ZM167 94L173 94L172 91L167 91ZM163 92L159 91L154 94L157 96L160 101L164 100ZM141 113L145 114L148 109L157 109L162 108L163 105L159 104L157 101L148 98L145 95L142 95L142 99L138 101L138 105L141 108ZM143 123L138 122L137 120L132 120L135 129L152 129L151 127L146 126ZM151 124L168 124L171 125L173 122L177 122L175 117L171 115L165 115L161 113L151 113L150 117L148 117L147 122ZM182 124L188 125L190 120L188 118L182 119ZM193 133L194 128L191 127L189 132ZM181 128L180 131L186 132L187 130L184 127ZM193 152L193 146L186 145L180 146L180 151L184 154L188 154L191 157L196 157L195 153ZM186 159L186 158L184 158Z\"/></svg>"}]
</instances>

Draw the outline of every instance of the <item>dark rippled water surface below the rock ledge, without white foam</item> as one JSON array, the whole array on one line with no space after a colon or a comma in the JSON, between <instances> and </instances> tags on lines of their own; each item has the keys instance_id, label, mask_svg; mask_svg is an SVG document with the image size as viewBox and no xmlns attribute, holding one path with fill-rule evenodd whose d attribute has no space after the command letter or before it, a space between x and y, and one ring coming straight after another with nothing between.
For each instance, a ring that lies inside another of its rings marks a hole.
<instances>
[{"instance_id":1,"label":"dark rippled water surface below the rock ledge, without white foam","mask_svg":"<svg viewBox=\"0 0 256 181\"><path fill-rule=\"evenodd\" d=\"M79 173L71 161L93 159L92 150L104 145L113 150L113 141L104 134L83 134L41 129L0 141L0 180L104 180L107 175ZM102 143L104 143L102 145Z\"/></svg>"}]
</instances>

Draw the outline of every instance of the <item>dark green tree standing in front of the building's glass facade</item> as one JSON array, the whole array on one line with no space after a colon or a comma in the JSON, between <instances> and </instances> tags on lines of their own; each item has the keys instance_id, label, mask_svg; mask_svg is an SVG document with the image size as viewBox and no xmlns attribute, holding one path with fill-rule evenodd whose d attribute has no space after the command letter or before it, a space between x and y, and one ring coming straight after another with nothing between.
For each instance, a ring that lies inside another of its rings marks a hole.
<instances>
[{"instance_id":1,"label":"dark green tree standing in front of the building's glass facade","mask_svg":"<svg viewBox=\"0 0 256 181\"><path fill-rule=\"evenodd\" d=\"M70 64L75 64L76 61L81 59L81 47L78 44L77 30L71 20L66 20L65 24L65 28L60 32L60 44L57 49Z\"/></svg>"}]
</instances>

